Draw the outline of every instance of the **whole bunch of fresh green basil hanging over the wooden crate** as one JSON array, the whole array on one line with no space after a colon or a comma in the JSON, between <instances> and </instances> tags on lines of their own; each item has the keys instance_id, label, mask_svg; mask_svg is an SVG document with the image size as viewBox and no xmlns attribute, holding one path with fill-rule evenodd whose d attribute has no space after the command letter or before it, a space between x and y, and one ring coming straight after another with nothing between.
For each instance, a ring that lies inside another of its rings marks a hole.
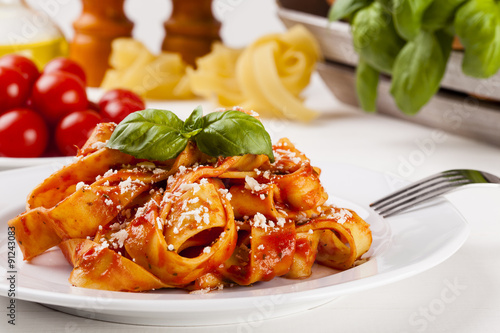
<instances>
[{"instance_id":1,"label":"whole bunch of fresh green basil hanging over the wooden crate","mask_svg":"<svg viewBox=\"0 0 500 333\"><path fill-rule=\"evenodd\" d=\"M464 74L500 71L500 0L336 0L329 19L352 27L356 90L366 111L376 109L382 73L391 77L399 109L416 114L441 86L455 35L464 46Z\"/></svg>"}]
</instances>

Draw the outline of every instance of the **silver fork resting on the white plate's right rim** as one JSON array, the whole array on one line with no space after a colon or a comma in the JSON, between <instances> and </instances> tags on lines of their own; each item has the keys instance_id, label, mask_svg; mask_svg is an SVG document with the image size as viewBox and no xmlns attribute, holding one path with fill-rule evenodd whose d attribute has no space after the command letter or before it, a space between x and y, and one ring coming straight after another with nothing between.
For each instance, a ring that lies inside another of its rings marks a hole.
<instances>
[{"instance_id":1,"label":"silver fork resting on the white plate's right rim","mask_svg":"<svg viewBox=\"0 0 500 333\"><path fill-rule=\"evenodd\" d=\"M500 184L500 178L477 170L448 170L429 176L370 204L377 213L388 217L404 212L451 190L468 184Z\"/></svg>"}]
</instances>

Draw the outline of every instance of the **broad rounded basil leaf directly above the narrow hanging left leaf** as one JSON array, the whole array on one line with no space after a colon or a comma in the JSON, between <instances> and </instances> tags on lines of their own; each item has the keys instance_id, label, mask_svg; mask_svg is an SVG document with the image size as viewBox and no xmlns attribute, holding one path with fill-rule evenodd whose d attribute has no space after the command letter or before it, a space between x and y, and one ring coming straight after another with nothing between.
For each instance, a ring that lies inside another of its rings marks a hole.
<instances>
[{"instance_id":1,"label":"broad rounded basil leaf directly above the narrow hanging left leaf","mask_svg":"<svg viewBox=\"0 0 500 333\"><path fill-rule=\"evenodd\" d=\"M390 74L405 41L399 37L391 14L379 2L360 9L352 22L354 48L376 70Z\"/></svg>"}]
</instances>

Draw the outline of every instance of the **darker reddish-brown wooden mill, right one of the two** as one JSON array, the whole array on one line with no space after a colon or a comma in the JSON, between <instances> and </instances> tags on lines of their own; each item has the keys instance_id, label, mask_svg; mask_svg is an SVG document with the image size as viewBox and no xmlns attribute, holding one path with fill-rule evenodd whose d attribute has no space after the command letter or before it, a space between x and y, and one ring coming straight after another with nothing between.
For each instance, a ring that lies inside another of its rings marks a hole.
<instances>
[{"instance_id":1,"label":"darker reddish-brown wooden mill, right one of the two","mask_svg":"<svg viewBox=\"0 0 500 333\"><path fill-rule=\"evenodd\" d=\"M220 40L221 23L212 13L212 0L171 0L172 14L165 22L162 50L178 52L189 65L210 52Z\"/></svg>"}]
</instances>

